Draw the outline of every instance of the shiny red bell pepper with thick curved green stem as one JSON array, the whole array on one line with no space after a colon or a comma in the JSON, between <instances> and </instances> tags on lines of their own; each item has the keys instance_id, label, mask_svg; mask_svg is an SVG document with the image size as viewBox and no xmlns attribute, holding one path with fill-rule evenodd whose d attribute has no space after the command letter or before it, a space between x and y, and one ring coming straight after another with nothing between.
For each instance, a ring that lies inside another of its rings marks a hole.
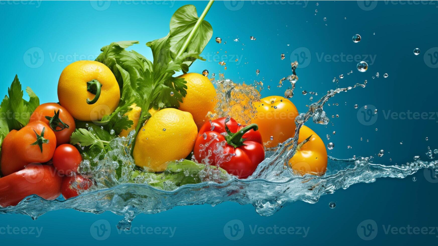
<instances>
[{"instance_id":1,"label":"shiny red bell pepper with thick curved green stem","mask_svg":"<svg viewBox=\"0 0 438 246\"><path fill-rule=\"evenodd\" d=\"M194 157L198 162L219 165L239 179L246 179L265 159L261 134L256 124L244 127L234 119L225 121L226 118L215 119L201 127Z\"/></svg>"}]
</instances>

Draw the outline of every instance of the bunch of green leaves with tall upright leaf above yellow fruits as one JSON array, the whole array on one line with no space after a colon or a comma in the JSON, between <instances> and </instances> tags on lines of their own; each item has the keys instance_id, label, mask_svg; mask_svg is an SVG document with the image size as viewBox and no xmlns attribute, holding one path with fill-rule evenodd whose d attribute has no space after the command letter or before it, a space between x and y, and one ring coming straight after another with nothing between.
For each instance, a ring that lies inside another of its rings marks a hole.
<instances>
[{"instance_id":1,"label":"bunch of green leaves with tall upright leaf above yellow fruits","mask_svg":"<svg viewBox=\"0 0 438 246\"><path fill-rule=\"evenodd\" d=\"M150 117L148 109L152 107L179 107L187 94L187 85L184 79L173 75L178 71L186 73L196 59L204 60L199 55L213 33L211 25L204 20L205 14L206 11L198 18L193 5L180 7L170 20L169 34L146 44L152 49L153 63L134 50L126 50L138 41L113 42L102 47L96 61L113 71L121 98L115 112L104 116L100 123L109 123L111 129L117 126L115 130L131 127L132 121L120 115L134 103L142 109L139 126Z\"/></svg>"}]
</instances>

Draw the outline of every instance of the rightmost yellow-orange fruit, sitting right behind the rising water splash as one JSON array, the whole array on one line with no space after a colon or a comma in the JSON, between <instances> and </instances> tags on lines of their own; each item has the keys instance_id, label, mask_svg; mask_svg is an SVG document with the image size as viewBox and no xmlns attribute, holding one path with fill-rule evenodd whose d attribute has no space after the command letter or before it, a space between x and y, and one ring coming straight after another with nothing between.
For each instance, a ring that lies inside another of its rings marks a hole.
<instances>
[{"instance_id":1,"label":"rightmost yellow-orange fruit, sitting right behind the rising water splash","mask_svg":"<svg viewBox=\"0 0 438 246\"><path fill-rule=\"evenodd\" d=\"M308 137L310 137L309 141L300 146ZM297 152L290 158L289 165L300 175L308 173L322 176L327 169L327 160L327 150L321 137L309 127L302 126L298 137Z\"/></svg>"}]
</instances>

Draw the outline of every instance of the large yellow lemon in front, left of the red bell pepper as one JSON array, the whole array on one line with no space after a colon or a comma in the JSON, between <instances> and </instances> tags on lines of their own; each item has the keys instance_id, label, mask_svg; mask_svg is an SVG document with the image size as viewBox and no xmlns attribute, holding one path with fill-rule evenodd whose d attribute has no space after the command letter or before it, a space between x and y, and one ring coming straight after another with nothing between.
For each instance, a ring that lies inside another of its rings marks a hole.
<instances>
[{"instance_id":1,"label":"large yellow lemon in front, left of the red bell pepper","mask_svg":"<svg viewBox=\"0 0 438 246\"><path fill-rule=\"evenodd\" d=\"M167 162L186 158L198 128L189 112L161 109L141 127L134 146L134 162L152 172L166 170Z\"/></svg>"}]
</instances>

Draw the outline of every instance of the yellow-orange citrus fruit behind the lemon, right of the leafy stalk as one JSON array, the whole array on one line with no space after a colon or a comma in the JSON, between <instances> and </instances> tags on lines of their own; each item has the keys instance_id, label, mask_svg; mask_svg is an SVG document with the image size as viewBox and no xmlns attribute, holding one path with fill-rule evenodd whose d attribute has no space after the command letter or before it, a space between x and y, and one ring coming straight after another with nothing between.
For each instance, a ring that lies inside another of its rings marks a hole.
<instances>
[{"instance_id":1,"label":"yellow-orange citrus fruit behind the lemon, right of the leafy stalk","mask_svg":"<svg viewBox=\"0 0 438 246\"><path fill-rule=\"evenodd\" d=\"M179 76L187 81L187 95L179 109L190 112L199 128L208 121L208 111L214 112L216 91L212 82L202 74L188 73Z\"/></svg>"}]
</instances>

